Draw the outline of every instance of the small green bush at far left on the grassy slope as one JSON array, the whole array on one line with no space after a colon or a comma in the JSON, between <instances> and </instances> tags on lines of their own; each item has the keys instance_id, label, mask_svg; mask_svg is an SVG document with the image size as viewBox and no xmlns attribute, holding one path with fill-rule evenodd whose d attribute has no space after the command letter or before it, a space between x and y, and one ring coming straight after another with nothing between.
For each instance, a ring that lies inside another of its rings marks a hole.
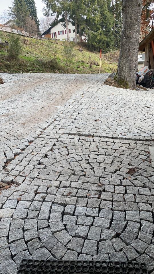
<instances>
[{"instance_id":1,"label":"small green bush at far left on the grassy slope","mask_svg":"<svg viewBox=\"0 0 154 274\"><path fill-rule=\"evenodd\" d=\"M8 57L9 59L18 60L22 51L22 41L19 35L10 35Z\"/></svg>"}]
</instances>

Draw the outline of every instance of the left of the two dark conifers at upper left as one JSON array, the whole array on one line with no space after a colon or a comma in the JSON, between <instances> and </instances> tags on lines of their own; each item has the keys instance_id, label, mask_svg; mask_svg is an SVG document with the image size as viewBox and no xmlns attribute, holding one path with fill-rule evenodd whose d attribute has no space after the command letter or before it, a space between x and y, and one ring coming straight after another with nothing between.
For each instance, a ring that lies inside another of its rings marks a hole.
<instances>
[{"instance_id":1,"label":"left of the two dark conifers at upper left","mask_svg":"<svg viewBox=\"0 0 154 274\"><path fill-rule=\"evenodd\" d=\"M10 15L15 19L15 24L18 27L25 29L26 18L29 16L29 11L24 0L13 0L12 7L9 7Z\"/></svg>"}]
</instances>

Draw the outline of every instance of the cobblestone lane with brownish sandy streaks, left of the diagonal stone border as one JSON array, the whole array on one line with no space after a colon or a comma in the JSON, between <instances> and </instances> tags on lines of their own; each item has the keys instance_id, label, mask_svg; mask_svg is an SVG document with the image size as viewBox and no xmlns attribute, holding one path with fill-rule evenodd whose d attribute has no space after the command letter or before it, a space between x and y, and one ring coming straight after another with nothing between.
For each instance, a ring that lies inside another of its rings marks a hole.
<instances>
[{"instance_id":1,"label":"cobblestone lane with brownish sandy streaks, left of the diagonal stone border","mask_svg":"<svg viewBox=\"0 0 154 274\"><path fill-rule=\"evenodd\" d=\"M72 94L76 99L100 78L98 74L0 74L0 77L6 81L0 85L0 170L69 106Z\"/></svg>"}]
</instances>

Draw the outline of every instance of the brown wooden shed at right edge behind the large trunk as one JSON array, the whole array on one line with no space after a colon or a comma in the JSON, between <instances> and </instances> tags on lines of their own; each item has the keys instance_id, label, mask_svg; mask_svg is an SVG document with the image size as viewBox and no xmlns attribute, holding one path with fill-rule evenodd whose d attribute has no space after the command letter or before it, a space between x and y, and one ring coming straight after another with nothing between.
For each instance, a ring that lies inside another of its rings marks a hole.
<instances>
[{"instance_id":1,"label":"brown wooden shed at right edge behind the large trunk","mask_svg":"<svg viewBox=\"0 0 154 274\"><path fill-rule=\"evenodd\" d=\"M139 51L145 51L144 65L154 69L154 29L139 43Z\"/></svg>"}]
</instances>

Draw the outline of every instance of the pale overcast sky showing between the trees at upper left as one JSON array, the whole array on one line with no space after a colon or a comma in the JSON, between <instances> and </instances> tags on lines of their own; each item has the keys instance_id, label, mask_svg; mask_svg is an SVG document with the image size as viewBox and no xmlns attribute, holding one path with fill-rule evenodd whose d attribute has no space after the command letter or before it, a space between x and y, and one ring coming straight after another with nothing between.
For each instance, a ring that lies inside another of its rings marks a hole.
<instances>
[{"instance_id":1,"label":"pale overcast sky showing between the trees at upper left","mask_svg":"<svg viewBox=\"0 0 154 274\"><path fill-rule=\"evenodd\" d=\"M3 9L8 9L8 7L11 6L12 0L0 0L0 2L1 2L0 14L1 14ZM44 4L42 3L42 0L35 0L35 5L37 7L38 19L40 19L40 17L43 17L43 13L42 13L41 9L44 7Z\"/></svg>"}]
</instances>

